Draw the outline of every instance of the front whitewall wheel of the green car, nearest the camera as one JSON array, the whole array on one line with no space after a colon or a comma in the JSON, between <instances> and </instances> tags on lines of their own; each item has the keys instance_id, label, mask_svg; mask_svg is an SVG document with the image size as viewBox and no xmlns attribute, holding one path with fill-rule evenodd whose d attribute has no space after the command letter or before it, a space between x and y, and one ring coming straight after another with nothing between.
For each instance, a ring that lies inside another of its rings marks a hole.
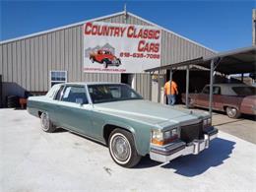
<instances>
[{"instance_id":1,"label":"front whitewall wheel of the green car, nearest the camera","mask_svg":"<svg viewBox=\"0 0 256 192\"><path fill-rule=\"evenodd\" d=\"M108 148L111 158L119 165L130 168L140 160L134 145L133 136L123 129L115 129L108 139Z\"/></svg>"}]
</instances>

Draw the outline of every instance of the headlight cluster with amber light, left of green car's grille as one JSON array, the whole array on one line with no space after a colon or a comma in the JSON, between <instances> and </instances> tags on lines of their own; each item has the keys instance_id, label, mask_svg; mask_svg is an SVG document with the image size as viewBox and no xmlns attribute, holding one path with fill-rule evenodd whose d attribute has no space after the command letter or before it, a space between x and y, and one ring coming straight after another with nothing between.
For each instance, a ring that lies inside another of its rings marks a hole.
<instances>
[{"instance_id":1,"label":"headlight cluster with amber light, left of green car's grille","mask_svg":"<svg viewBox=\"0 0 256 192\"><path fill-rule=\"evenodd\" d=\"M160 130L152 131L152 143L163 146L178 138L178 129L173 128L171 130L161 132Z\"/></svg>"}]
</instances>

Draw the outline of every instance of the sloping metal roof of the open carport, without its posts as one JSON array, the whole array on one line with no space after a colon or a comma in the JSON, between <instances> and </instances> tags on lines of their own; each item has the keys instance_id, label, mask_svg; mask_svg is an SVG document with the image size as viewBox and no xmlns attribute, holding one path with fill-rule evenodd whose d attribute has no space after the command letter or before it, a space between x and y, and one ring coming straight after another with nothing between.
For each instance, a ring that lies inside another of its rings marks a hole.
<instances>
[{"instance_id":1,"label":"sloping metal roof of the open carport, without its posts","mask_svg":"<svg viewBox=\"0 0 256 192\"><path fill-rule=\"evenodd\" d=\"M256 72L256 46L238 48L216 53L211 57L199 57L193 60L160 66L153 69L148 69L146 72L177 68L187 65L199 65L210 69L211 61L213 59L220 59L215 70L226 75Z\"/></svg>"}]
</instances>

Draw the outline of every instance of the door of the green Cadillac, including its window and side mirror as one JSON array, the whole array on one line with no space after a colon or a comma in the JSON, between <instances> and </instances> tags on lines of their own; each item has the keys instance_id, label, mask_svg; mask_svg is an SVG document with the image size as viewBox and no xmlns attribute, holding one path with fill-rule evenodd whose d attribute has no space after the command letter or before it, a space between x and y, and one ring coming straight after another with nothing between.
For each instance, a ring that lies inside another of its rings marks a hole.
<instances>
[{"instance_id":1,"label":"door of the green Cadillac, including its window and side mirror","mask_svg":"<svg viewBox=\"0 0 256 192\"><path fill-rule=\"evenodd\" d=\"M92 105L85 86L66 86L57 108L62 127L92 136Z\"/></svg>"}]
</instances>

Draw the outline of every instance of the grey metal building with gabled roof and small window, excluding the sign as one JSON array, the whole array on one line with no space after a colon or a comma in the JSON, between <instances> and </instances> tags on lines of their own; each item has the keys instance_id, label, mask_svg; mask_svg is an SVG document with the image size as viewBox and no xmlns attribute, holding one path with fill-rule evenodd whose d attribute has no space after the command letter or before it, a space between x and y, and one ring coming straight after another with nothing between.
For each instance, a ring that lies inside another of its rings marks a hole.
<instances>
[{"instance_id":1,"label":"grey metal building with gabled roof and small window, excluding the sign","mask_svg":"<svg viewBox=\"0 0 256 192\"><path fill-rule=\"evenodd\" d=\"M83 25L87 22L159 28L161 66L215 53L210 48L126 11L45 32L32 33L0 42L2 106L5 105L6 96L24 96L25 91L39 95L47 92L51 85L62 81L124 82L131 84L145 98L153 99L155 92L152 90L152 76L149 73L83 72Z\"/></svg>"}]
</instances>

